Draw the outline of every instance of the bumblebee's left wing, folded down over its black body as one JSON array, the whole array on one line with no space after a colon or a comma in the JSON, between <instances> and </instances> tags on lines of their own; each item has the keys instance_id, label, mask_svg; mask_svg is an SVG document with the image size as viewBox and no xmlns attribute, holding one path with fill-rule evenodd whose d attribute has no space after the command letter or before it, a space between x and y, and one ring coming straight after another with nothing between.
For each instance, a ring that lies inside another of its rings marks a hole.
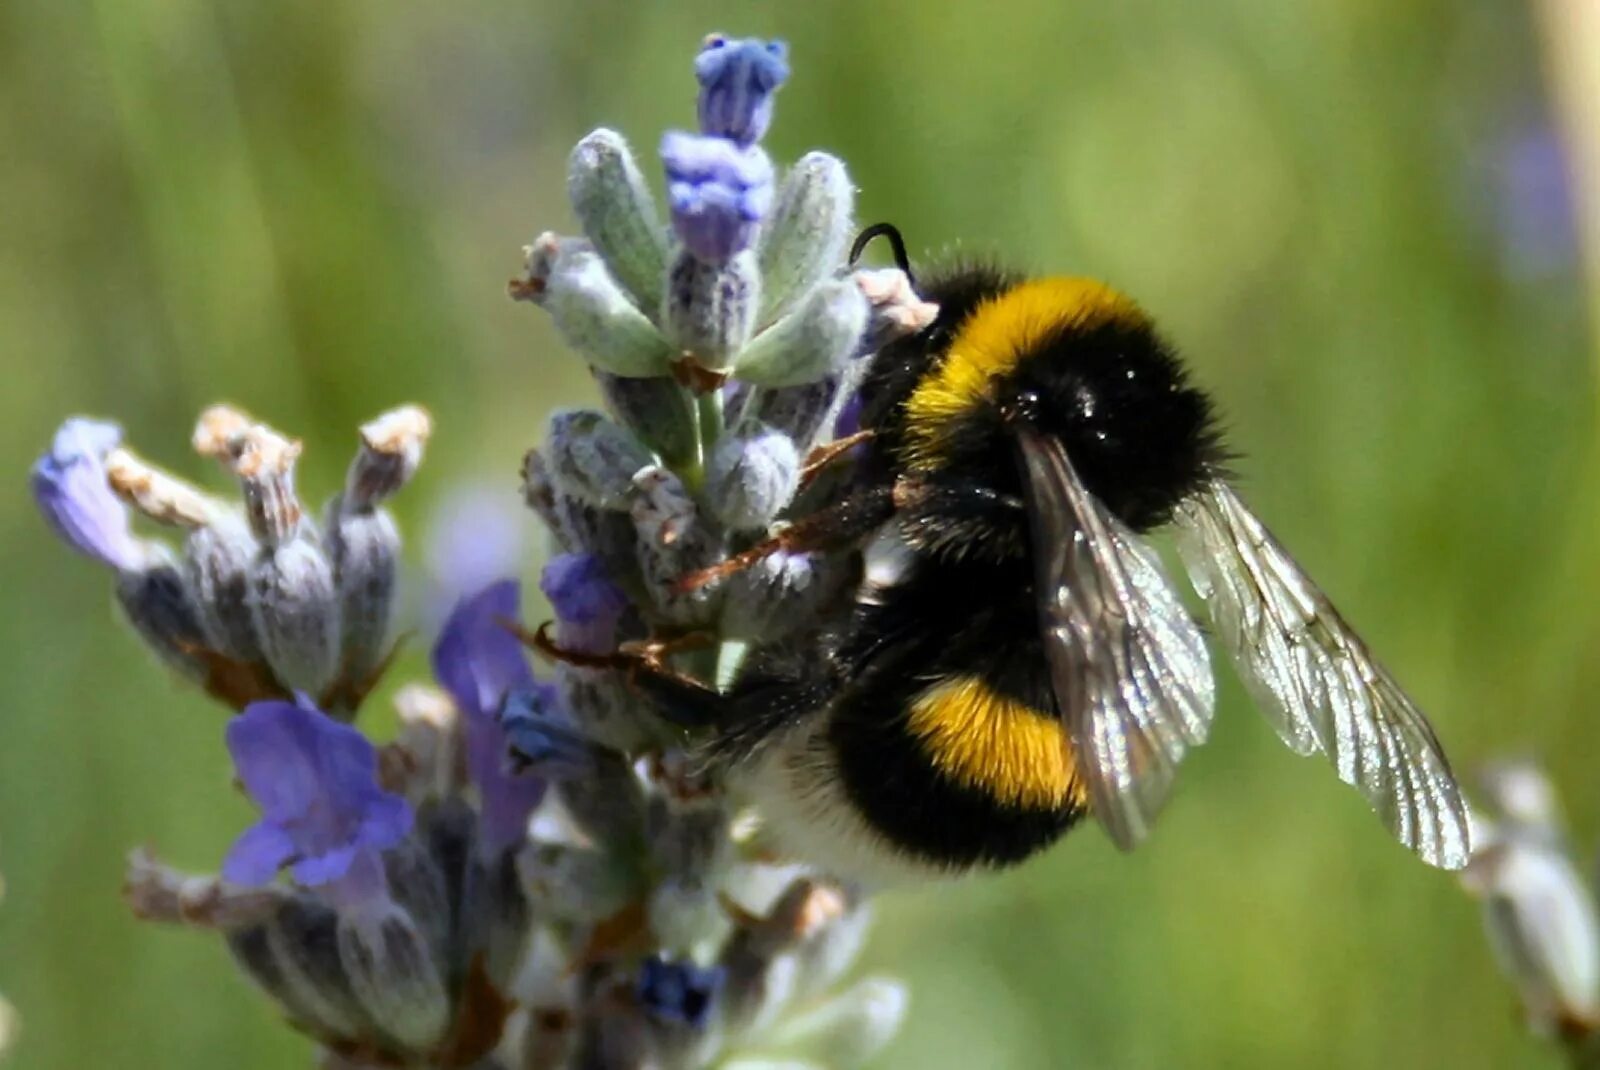
<instances>
[{"instance_id":1,"label":"bumblebee's left wing, folded down over its black body","mask_svg":"<svg viewBox=\"0 0 1600 1070\"><path fill-rule=\"evenodd\" d=\"M1155 552L1088 493L1058 441L1019 441L1056 702L1093 811L1126 849L1205 741L1211 662Z\"/></svg>"}]
</instances>

